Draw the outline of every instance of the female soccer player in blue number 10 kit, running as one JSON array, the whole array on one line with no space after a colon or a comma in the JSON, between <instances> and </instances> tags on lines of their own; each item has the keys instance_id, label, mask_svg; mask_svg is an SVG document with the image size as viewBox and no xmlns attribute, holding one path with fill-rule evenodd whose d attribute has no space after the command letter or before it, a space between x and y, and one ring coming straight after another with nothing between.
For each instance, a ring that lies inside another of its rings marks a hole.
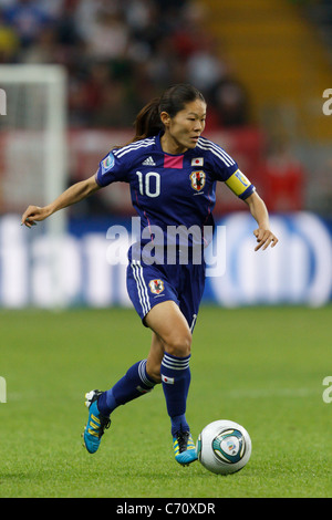
<instances>
[{"instance_id":1,"label":"female soccer player in blue number 10 kit, running","mask_svg":"<svg viewBox=\"0 0 332 520\"><path fill-rule=\"evenodd\" d=\"M249 206L258 223L256 250L278 242L255 187L220 146L201 136L206 108L194 86L167 89L137 115L133 141L110 152L95 175L45 207L29 206L22 216L22 223L30 228L97 189L125 181L141 218L142 239L128 251L127 290L143 324L152 330L152 344L147 358L131 366L111 389L85 395L89 418L83 439L91 454L98 449L115 408L162 383L175 459L184 466L197 459L185 413L191 334L205 282L204 260L195 260L194 250L198 245L203 251L205 236L187 232L186 241L178 235L170 237L169 229L200 231L211 226L216 181L220 180ZM152 246L154 258L147 253ZM181 261L184 248L186 261Z\"/></svg>"}]
</instances>

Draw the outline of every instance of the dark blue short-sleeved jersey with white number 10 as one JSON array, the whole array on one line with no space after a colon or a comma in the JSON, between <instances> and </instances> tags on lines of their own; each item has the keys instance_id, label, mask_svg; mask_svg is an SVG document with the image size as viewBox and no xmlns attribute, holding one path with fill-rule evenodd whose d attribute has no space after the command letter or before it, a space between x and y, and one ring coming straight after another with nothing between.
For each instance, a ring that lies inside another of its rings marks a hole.
<instances>
[{"instance_id":1,"label":"dark blue short-sleeved jersey with white number 10","mask_svg":"<svg viewBox=\"0 0 332 520\"><path fill-rule=\"evenodd\" d=\"M110 152L96 173L102 187L128 183L142 229L157 226L164 232L168 226L211 226L217 180L242 199L255 190L238 164L205 137L181 155L166 154L160 135L137 141Z\"/></svg>"}]
</instances>

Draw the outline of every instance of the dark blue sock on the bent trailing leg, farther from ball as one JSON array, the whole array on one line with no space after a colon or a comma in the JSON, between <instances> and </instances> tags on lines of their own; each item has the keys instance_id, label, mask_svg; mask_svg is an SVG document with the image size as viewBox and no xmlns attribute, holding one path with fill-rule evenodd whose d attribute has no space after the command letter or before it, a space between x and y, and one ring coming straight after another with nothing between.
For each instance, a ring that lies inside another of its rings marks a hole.
<instances>
[{"instance_id":1,"label":"dark blue sock on the bent trailing leg, farther from ball","mask_svg":"<svg viewBox=\"0 0 332 520\"><path fill-rule=\"evenodd\" d=\"M117 406L151 392L155 384L146 373L146 360L138 361L111 389L98 397L98 410L107 417Z\"/></svg>"}]
</instances>

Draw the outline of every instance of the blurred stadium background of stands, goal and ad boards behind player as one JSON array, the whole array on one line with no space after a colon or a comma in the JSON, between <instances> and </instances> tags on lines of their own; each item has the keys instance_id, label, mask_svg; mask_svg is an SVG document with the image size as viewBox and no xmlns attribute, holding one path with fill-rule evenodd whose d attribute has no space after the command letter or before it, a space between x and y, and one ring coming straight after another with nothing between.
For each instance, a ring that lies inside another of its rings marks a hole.
<instances>
[{"instance_id":1,"label":"blurred stadium background of stands, goal and ad boards behind player","mask_svg":"<svg viewBox=\"0 0 332 520\"><path fill-rule=\"evenodd\" d=\"M218 187L226 271L205 302L331 301L330 0L0 0L0 65L1 308L131 305L125 266L106 254L110 226L131 229L126 185L30 231L20 216L91 176L176 82L203 91L206 136L257 186L280 238L253 254L247 207Z\"/></svg>"}]
</instances>

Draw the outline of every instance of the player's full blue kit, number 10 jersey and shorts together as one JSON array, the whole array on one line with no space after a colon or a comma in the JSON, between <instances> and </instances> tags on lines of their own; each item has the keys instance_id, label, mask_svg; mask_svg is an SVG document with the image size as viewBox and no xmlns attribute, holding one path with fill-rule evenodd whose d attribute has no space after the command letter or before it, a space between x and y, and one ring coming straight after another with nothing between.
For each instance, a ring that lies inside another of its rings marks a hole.
<instances>
[{"instance_id":1,"label":"player's full blue kit, number 10 jersey and shorts together","mask_svg":"<svg viewBox=\"0 0 332 520\"><path fill-rule=\"evenodd\" d=\"M242 199L255 190L237 163L205 137L199 137L194 149L170 155L163 150L158 135L110 152L100 163L96 183L128 183L141 218L138 259L134 247L128 251L127 291L144 324L154 305L173 300L194 330L205 285L205 262L201 257L194 261L193 251L197 248L193 246L198 243L201 253L206 246L205 227L214 227L217 180L225 181ZM169 241L170 230L180 227L190 230L184 236L188 248L183 248L179 235L175 235L173 243ZM197 236L194 229L198 229ZM147 241L157 249L157 230L162 233L162 253L154 251L151 262L144 251ZM176 258L170 256L170 260L169 245L176 246ZM191 251L191 257L181 261L184 249Z\"/></svg>"}]
</instances>

